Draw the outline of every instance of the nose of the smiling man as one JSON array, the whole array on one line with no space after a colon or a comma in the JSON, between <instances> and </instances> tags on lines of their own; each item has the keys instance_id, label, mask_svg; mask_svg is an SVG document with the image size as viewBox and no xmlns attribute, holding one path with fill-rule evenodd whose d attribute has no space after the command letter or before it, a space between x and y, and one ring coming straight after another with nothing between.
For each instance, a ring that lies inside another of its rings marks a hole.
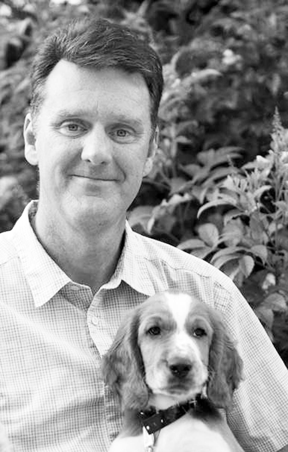
<instances>
[{"instance_id":1,"label":"nose of the smiling man","mask_svg":"<svg viewBox=\"0 0 288 452\"><path fill-rule=\"evenodd\" d=\"M107 164L112 160L112 141L102 125L97 125L84 137L81 159L93 165Z\"/></svg>"}]
</instances>

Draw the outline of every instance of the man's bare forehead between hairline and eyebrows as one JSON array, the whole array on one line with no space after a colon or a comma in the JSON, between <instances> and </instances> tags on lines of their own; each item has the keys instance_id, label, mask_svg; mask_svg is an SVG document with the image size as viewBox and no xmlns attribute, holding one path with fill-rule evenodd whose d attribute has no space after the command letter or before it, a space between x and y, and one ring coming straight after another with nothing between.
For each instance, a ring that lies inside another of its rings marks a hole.
<instances>
[{"instance_id":1,"label":"man's bare forehead between hairline and eyebrows","mask_svg":"<svg viewBox=\"0 0 288 452\"><path fill-rule=\"evenodd\" d=\"M142 75L115 68L96 70L61 60L48 75L42 94L43 104L62 116L73 110L89 114L89 109L95 112L98 104L105 103L118 117L137 120L138 114L150 115L151 100Z\"/></svg>"}]
</instances>

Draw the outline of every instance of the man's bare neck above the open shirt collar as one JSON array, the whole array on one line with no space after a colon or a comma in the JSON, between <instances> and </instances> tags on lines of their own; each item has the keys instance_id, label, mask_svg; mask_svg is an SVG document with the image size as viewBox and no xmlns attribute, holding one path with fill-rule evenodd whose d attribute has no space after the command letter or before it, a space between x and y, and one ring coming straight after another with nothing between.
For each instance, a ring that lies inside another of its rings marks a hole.
<instances>
[{"instance_id":1,"label":"man's bare neck above the open shirt collar","mask_svg":"<svg viewBox=\"0 0 288 452\"><path fill-rule=\"evenodd\" d=\"M42 221L36 214L33 228L43 248L72 281L90 286L95 293L113 275L123 247L125 221L83 229Z\"/></svg>"}]
</instances>

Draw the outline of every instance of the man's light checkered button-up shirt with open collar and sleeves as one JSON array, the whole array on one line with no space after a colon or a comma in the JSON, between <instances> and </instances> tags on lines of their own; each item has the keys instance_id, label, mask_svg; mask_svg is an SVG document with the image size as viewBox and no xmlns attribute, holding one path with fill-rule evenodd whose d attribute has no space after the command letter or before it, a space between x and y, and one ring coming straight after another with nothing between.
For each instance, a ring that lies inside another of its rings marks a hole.
<instances>
[{"instance_id":1,"label":"man's light checkered button-up shirt with open collar and sleeves","mask_svg":"<svg viewBox=\"0 0 288 452\"><path fill-rule=\"evenodd\" d=\"M123 315L166 289L221 311L238 344L245 380L227 421L242 447L275 452L288 444L288 371L230 278L127 224L117 268L93 297L38 242L28 215L35 209L28 204L0 234L0 424L15 452L108 450L121 416L100 359Z\"/></svg>"}]
</instances>

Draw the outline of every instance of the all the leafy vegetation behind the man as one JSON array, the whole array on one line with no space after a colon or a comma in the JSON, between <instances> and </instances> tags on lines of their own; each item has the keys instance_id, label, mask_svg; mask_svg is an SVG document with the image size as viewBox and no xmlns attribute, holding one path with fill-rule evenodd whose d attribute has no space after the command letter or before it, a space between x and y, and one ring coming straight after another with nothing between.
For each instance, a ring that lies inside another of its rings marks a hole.
<instances>
[{"instance_id":1,"label":"all the leafy vegetation behind the man","mask_svg":"<svg viewBox=\"0 0 288 452\"><path fill-rule=\"evenodd\" d=\"M135 28L164 65L159 152L130 224L227 273L288 366L286 0L0 1L0 231L38 196L22 137L35 50L91 14Z\"/></svg>"}]
</instances>

